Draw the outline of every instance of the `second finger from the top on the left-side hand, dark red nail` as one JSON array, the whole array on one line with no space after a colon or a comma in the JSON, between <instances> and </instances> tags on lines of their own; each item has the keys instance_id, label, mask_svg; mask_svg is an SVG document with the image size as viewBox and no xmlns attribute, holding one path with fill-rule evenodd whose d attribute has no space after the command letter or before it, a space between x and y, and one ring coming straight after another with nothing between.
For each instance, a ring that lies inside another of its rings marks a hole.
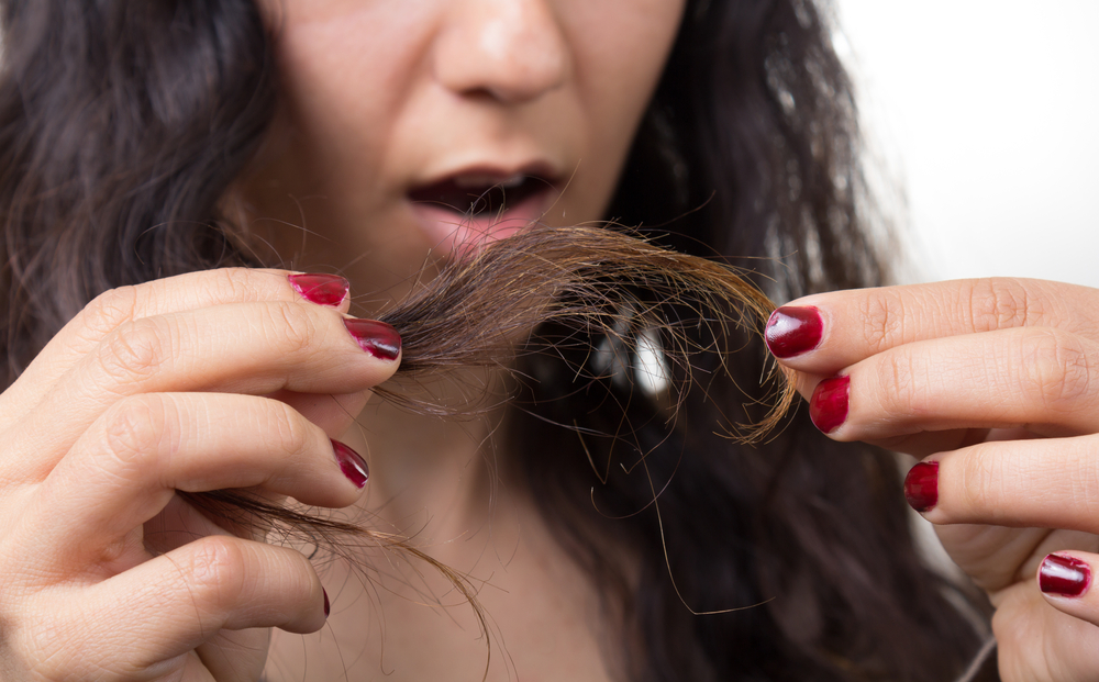
<instances>
[{"instance_id":1,"label":"second finger from the top on the left-side hand, dark red nail","mask_svg":"<svg viewBox=\"0 0 1099 682\"><path fill-rule=\"evenodd\" d=\"M389 325L297 303L243 303L145 317L112 332L24 418L9 451L54 454L43 476L114 402L143 392L362 392L397 369ZM333 410L338 410L336 402ZM343 415L345 420L353 415Z\"/></svg>"}]
</instances>

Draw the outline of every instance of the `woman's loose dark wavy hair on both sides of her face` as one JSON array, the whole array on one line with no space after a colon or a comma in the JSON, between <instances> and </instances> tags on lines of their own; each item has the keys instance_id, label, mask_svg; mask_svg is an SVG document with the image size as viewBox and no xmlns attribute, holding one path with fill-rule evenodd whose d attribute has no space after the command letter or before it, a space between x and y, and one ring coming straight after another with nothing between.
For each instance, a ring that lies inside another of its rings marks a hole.
<instances>
[{"instance_id":1,"label":"woman's loose dark wavy hair on both sides of her face","mask_svg":"<svg viewBox=\"0 0 1099 682\"><path fill-rule=\"evenodd\" d=\"M255 260L219 201L270 123L276 77L252 0L9 0L2 22L10 382L103 290ZM748 266L780 297L879 283L857 133L814 3L690 2L608 216ZM668 320L697 317L644 288L632 295ZM559 335L553 324L543 337ZM522 444L508 448L510 466L621 624L630 679L956 674L977 635L913 548L895 459L832 443L803 413L765 446L713 433L758 418L734 389L758 382L766 351L752 335L678 328L698 347L744 349L731 377L714 372L684 396L676 418L621 372L573 383L565 368L604 343L596 333L559 360L518 360L539 381L521 389L507 427ZM693 360L702 373L721 361ZM606 436L623 421L624 437ZM603 478L589 457L633 473Z\"/></svg>"}]
</instances>

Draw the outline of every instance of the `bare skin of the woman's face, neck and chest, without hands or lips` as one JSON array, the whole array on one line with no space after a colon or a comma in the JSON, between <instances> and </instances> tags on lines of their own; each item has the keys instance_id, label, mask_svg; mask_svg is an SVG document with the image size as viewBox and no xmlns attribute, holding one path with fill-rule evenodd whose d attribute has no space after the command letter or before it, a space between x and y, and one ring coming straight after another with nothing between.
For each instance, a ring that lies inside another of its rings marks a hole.
<instances>
[{"instance_id":1,"label":"bare skin of the woman's face, neck and chest, without hands or lips","mask_svg":"<svg viewBox=\"0 0 1099 682\"><path fill-rule=\"evenodd\" d=\"M418 226L408 197L425 181L544 166L562 182L542 222L600 220L681 12L678 0L285 0L270 20L284 110L264 169L242 194L257 214L322 231L275 239L306 262L338 266L356 292L370 293L371 309L407 291L429 253L447 250ZM299 214L288 197L324 200L301 201ZM414 536L490 585L478 594L497 628L490 679L608 679L601 647L612 628L598 595L521 487L486 458L493 425L371 404L345 435L374 472L360 506L371 523ZM451 593L441 578L410 586L400 571L369 583L347 566L330 571L326 584L338 585L330 638L303 647L278 637L273 677L480 679L488 650L478 624L460 600L440 599ZM456 606L423 605L437 602Z\"/></svg>"}]
</instances>

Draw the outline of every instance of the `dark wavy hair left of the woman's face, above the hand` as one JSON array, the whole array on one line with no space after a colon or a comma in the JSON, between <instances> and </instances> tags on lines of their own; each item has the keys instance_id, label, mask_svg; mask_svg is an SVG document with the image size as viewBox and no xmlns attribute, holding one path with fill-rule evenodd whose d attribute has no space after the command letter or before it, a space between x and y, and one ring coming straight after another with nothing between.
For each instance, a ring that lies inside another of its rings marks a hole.
<instances>
[{"instance_id":1,"label":"dark wavy hair left of the woman's face, above the hand","mask_svg":"<svg viewBox=\"0 0 1099 682\"><path fill-rule=\"evenodd\" d=\"M276 94L251 0L0 7L10 382L100 292L252 260L218 204Z\"/></svg>"}]
</instances>

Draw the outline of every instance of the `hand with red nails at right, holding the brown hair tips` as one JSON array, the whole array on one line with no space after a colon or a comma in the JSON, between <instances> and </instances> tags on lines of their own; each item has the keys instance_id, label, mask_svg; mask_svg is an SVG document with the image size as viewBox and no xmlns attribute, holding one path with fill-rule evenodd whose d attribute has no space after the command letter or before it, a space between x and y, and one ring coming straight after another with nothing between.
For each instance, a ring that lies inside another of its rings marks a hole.
<instances>
[{"instance_id":1,"label":"hand with red nails at right, holding the brown hair tips","mask_svg":"<svg viewBox=\"0 0 1099 682\"><path fill-rule=\"evenodd\" d=\"M830 437L926 458L906 496L990 595L1002 679L1099 679L1099 290L819 294L767 342Z\"/></svg>"}]
</instances>

